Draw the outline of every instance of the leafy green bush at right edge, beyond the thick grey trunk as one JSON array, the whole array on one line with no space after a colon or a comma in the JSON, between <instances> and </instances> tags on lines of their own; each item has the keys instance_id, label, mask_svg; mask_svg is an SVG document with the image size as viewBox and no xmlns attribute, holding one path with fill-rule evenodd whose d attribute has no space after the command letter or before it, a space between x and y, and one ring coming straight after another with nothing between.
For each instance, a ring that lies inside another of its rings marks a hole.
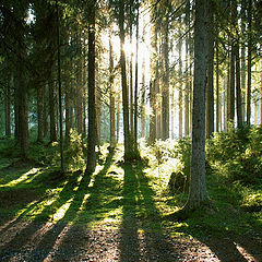
<instances>
[{"instance_id":1,"label":"leafy green bush at right edge, beyond the thick grey trunk","mask_svg":"<svg viewBox=\"0 0 262 262\"><path fill-rule=\"evenodd\" d=\"M230 182L255 184L262 179L262 129L230 128L228 132L215 133L207 142L209 164Z\"/></svg>"}]
</instances>

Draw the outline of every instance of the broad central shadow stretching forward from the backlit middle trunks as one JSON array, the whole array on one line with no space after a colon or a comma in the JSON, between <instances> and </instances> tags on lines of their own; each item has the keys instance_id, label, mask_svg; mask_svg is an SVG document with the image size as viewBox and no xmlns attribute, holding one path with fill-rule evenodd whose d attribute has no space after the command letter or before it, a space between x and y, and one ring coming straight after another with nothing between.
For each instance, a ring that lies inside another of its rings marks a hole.
<instances>
[{"instance_id":1,"label":"broad central shadow stretching forward from the backlit middle trunks","mask_svg":"<svg viewBox=\"0 0 262 262\"><path fill-rule=\"evenodd\" d=\"M142 168L124 167L120 261L182 261L176 242L162 230L154 192ZM148 223L154 224L153 231Z\"/></svg>"}]
</instances>

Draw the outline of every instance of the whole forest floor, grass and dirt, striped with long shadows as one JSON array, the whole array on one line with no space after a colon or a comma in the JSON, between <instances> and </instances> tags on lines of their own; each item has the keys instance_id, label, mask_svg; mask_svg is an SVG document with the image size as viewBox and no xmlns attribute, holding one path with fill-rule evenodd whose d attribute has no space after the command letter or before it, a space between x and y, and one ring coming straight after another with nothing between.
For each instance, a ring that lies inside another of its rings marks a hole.
<instances>
[{"instance_id":1,"label":"whole forest floor, grass and dirt, striped with long shadows","mask_svg":"<svg viewBox=\"0 0 262 262\"><path fill-rule=\"evenodd\" d=\"M151 170L114 162L61 178L1 159L0 261L262 261L261 227L240 211L166 221Z\"/></svg>"}]
</instances>

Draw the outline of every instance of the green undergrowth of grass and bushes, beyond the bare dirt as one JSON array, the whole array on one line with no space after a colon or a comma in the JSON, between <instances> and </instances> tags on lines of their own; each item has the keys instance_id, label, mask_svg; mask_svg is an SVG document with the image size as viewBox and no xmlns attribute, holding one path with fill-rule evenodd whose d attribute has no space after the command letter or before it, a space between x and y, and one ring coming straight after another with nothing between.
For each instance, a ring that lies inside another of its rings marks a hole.
<instances>
[{"instance_id":1,"label":"green undergrowth of grass and bushes, beyond the bare dirt","mask_svg":"<svg viewBox=\"0 0 262 262\"><path fill-rule=\"evenodd\" d=\"M128 217L141 221L141 229L192 236L228 234L261 228L262 178L260 128L230 129L215 133L206 143L206 180L213 212L196 212L186 222L163 219L183 206L188 196L191 141L140 140L141 160L123 165L123 146L97 148L97 167L84 177L86 143L74 131L66 145L67 175L56 176L60 164L58 143L31 142L31 164L15 164L17 144L0 141L0 193L21 195L1 214L26 219L85 224L92 227L126 225ZM14 164L12 164L14 162ZM26 195L26 196L25 196ZM22 198L23 196L23 198ZM4 202L3 202L4 203Z\"/></svg>"}]
</instances>

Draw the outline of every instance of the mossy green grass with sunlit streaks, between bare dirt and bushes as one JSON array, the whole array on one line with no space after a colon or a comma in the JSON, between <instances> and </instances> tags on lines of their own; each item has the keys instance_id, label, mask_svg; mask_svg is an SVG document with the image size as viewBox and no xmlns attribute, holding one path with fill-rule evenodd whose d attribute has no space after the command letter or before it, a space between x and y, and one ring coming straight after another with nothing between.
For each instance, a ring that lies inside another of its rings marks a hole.
<instances>
[{"instance_id":1,"label":"mossy green grass with sunlit streaks, between bare dirt and bushes","mask_svg":"<svg viewBox=\"0 0 262 262\"><path fill-rule=\"evenodd\" d=\"M56 145L34 144L31 146L32 155L37 152L37 146L47 158L56 151ZM123 165L122 146L109 154L105 145L92 177L83 176L83 169L78 167L78 171L71 168L61 178L56 171L57 164L39 166L34 162L24 165L15 162L9 166L12 159L1 158L0 214L10 218L81 224L91 228L165 231L174 237L262 233L262 183L255 187L228 183L217 170L207 174L212 211L195 212L184 222L165 219L166 214L179 210L187 200L187 192L170 193L168 190L171 172L181 167L181 157L172 158L177 150L169 156L168 151L174 148L170 144L168 146L168 150L163 150L165 160L159 163L154 148L141 143L142 162Z\"/></svg>"}]
</instances>

